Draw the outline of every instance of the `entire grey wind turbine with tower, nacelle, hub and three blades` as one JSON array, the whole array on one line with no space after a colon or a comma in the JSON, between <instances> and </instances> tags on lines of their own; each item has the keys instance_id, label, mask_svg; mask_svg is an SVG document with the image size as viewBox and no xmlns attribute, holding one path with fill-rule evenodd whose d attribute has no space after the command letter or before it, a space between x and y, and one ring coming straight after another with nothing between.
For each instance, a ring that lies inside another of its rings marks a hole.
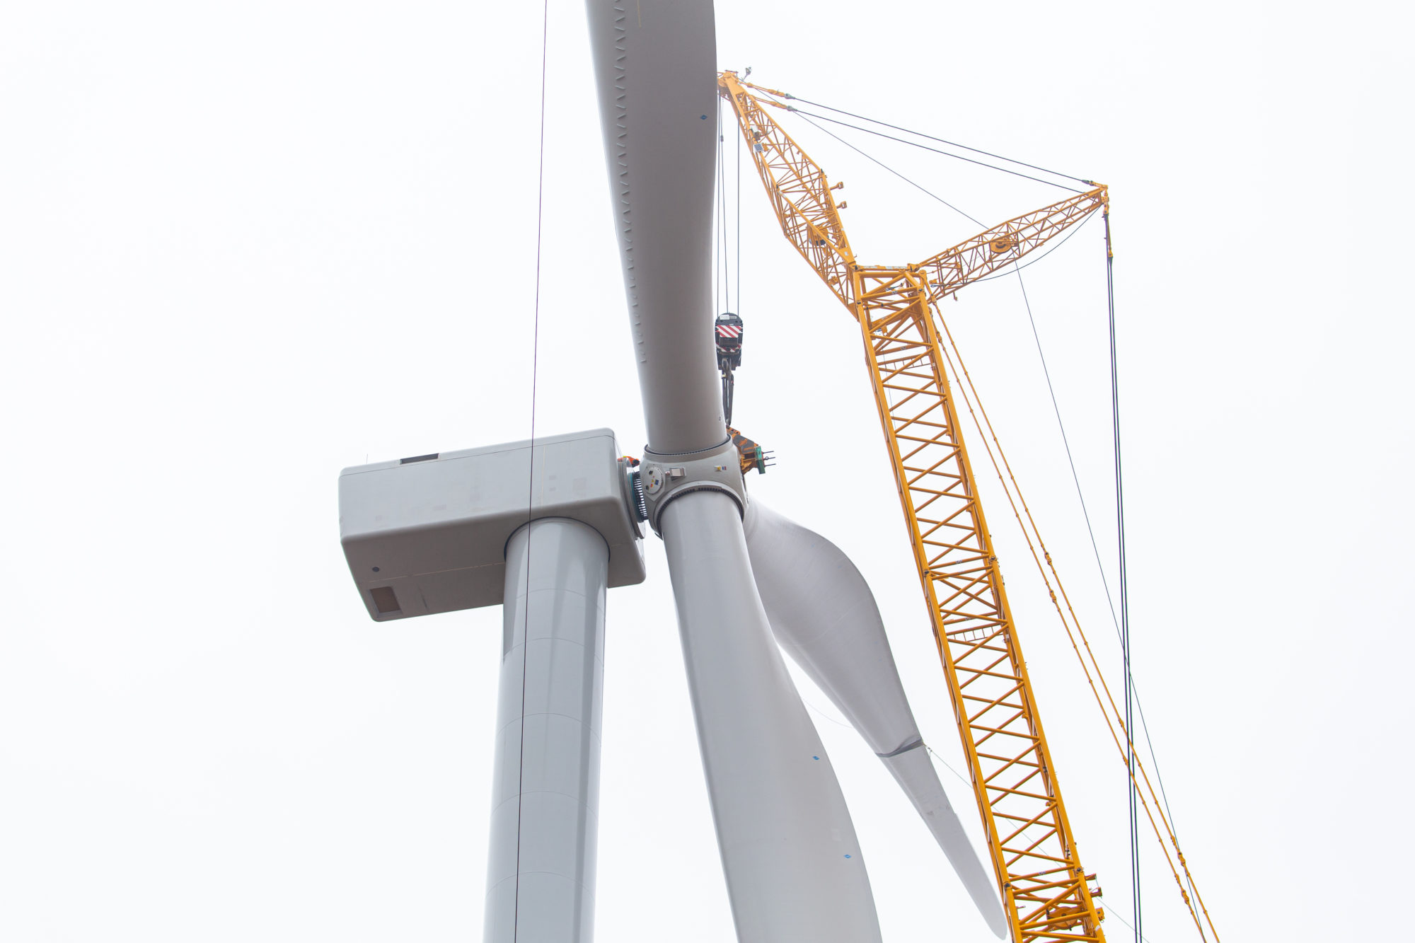
<instances>
[{"instance_id":1,"label":"entire grey wind turbine with tower, nacelle, hub and three blades","mask_svg":"<svg viewBox=\"0 0 1415 943\"><path fill-rule=\"evenodd\" d=\"M781 657L849 718L988 925L998 898L914 724L874 598L818 534L747 496L709 307L712 0L589 0L648 443L608 429L345 469L340 531L378 622L502 605L487 943L589 943L606 590L662 537L740 943L877 943L839 782Z\"/></svg>"}]
</instances>

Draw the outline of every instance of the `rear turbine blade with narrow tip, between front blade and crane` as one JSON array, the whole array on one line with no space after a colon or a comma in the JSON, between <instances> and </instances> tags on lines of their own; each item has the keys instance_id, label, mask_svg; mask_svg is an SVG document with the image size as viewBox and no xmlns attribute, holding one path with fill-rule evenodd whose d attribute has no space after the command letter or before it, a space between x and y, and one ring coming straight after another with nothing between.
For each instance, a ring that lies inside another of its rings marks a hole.
<instances>
[{"instance_id":1,"label":"rear turbine blade with narrow tip, between front blade and crane","mask_svg":"<svg viewBox=\"0 0 1415 943\"><path fill-rule=\"evenodd\" d=\"M761 501L747 505L744 530L777 641L883 760L988 926L1003 936L1007 925L993 881L928 760L884 622L860 571L835 544Z\"/></svg>"}]
</instances>

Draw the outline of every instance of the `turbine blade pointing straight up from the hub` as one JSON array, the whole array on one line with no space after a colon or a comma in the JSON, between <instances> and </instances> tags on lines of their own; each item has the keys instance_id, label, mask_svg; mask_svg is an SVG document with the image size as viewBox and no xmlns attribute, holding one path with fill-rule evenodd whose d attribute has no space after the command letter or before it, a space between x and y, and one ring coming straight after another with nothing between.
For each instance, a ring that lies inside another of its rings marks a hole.
<instances>
[{"instance_id":1,"label":"turbine blade pointing straight up from the hub","mask_svg":"<svg viewBox=\"0 0 1415 943\"><path fill-rule=\"evenodd\" d=\"M727 440L712 334L712 1L586 6L648 443L706 449Z\"/></svg>"}]
</instances>

